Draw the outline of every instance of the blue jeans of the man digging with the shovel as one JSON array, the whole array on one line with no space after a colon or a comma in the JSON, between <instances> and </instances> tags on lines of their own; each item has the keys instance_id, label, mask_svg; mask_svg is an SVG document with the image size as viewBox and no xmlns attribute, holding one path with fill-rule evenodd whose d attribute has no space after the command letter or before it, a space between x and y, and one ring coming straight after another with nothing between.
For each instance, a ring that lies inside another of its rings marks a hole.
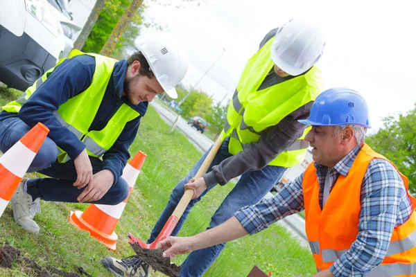
<instances>
[{"instance_id":1,"label":"blue jeans of the man digging with the shovel","mask_svg":"<svg viewBox=\"0 0 416 277\"><path fill-rule=\"evenodd\" d=\"M218 150L214 161L212 161L211 166L209 166L208 172L211 171L212 166L216 166L224 159L232 156L232 154L229 154L228 152L228 142L228 139L223 142L223 145L221 145L220 150ZM157 220L155 227L150 233L150 238L148 239L147 243L151 243L156 240L157 235L159 235L160 231L162 231L164 224L168 220L168 217L172 215L177 206L177 203L180 201L182 195L184 194L184 185L187 184L189 179L196 175L196 172L202 165L205 157L207 157L208 152L209 150L205 152L201 159L195 164L195 166L193 166L188 175L184 177L184 179L182 179L179 183L177 183L171 193L168 204L164 208L162 215L159 217L159 220ZM245 172L243 175L241 175L241 178L237 182L236 186L227 195L227 197L225 197L223 203L220 204L218 210L211 217L211 222L209 223L208 229L225 222L225 220L228 220L230 217L232 217L232 215L234 215L236 211L239 211L239 209L243 208L243 206L250 206L259 202L277 183L280 177L284 174L285 170L286 168L279 166L266 166L261 170ZM214 188L214 186L211 186L205 190L205 192L202 193L198 199L191 200L186 210L184 211L184 214L177 223L177 226L173 230L173 236L177 235L177 233L180 231L180 228L184 224L184 221L187 219L191 208L196 203L198 203L201 197L203 197L212 188ZM204 274L209 266L211 266L211 264L216 260L221 251L223 251L224 247L225 243L215 245L214 247L193 251L182 263L180 276L202 276L202 274Z\"/></svg>"}]
</instances>

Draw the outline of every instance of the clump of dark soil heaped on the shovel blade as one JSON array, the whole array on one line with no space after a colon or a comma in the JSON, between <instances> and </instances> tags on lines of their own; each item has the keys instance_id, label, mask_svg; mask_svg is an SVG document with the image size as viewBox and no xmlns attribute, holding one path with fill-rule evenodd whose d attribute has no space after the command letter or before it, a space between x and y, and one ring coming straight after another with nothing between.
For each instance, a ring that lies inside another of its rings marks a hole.
<instances>
[{"instance_id":1,"label":"clump of dark soil heaped on the shovel blade","mask_svg":"<svg viewBox=\"0 0 416 277\"><path fill-rule=\"evenodd\" d=\"M169 277L179 277L180 267L171 264L171 259L164 258L162 249L144 249L137 242L135 244L130 243L130 246L137 256L153 267L154 270L162 272Z\"/></svg>"}]
</instances>

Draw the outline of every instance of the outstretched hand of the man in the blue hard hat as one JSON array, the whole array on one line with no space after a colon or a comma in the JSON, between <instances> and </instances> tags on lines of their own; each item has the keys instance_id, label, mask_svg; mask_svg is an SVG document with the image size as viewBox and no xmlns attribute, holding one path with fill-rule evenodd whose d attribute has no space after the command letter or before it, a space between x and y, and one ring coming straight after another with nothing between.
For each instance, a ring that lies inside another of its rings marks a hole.
<instances>
[{"instance_id":1,"label":"outstretched hand of the man in the blue hard hat","mask_svg":"<svg viewBox=\"0 0 416 277\"><path fill-rule=\"evenodd\" d=\"M186 254L193 251L193 240L191 238L169 237L157 244L157 249L164 250L163 256L171 259L176 255Z\"/></svg>"}]
</instances>

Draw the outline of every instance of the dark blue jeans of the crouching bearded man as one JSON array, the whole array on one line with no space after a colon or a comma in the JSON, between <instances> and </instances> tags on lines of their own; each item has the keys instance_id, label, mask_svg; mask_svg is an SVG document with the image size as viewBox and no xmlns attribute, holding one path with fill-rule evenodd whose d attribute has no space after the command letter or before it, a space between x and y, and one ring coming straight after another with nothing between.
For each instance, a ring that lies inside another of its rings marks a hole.
<instances>
[{"instance_id":1,"label":"dark blue jeans of the crouching bearded man","mask_svg":"<svg viewBox=\"0 0 416 277\"><path fill-rule=\"evenodd\" d=\"M15 145L22 136L31 128L18 117L6 118L0 121L0 150L6 152ZM40 197L45 201L78 202L77 197L87 186L78 189L72 184L76 181L77 174L73 160L66 163L58 163L58 148L56 144L46 137L40 150L33 159L27 172L40 172L52 178L31 179L27 182L27 192L33 199ZM94 174L103 170L102 161L89 157ZM103 198L94 204L115 205L123 202L128 197L129 186L123 178L119 178Z\"/></svg>"}]
</instances>

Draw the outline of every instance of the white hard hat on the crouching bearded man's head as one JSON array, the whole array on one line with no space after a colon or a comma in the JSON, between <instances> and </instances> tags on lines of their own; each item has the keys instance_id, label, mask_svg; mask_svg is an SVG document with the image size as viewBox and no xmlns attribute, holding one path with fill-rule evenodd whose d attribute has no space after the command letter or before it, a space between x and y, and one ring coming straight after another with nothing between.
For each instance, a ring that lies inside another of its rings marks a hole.
<instances>
[{"instance_id":1,"label":"white hard hat on the crouching bearded man's head","mask_svg":"<svg viewBox=\"0 0 416 277\"><path fill-rule=\"evenodd\" d=\"M139 37L137 48L143 53L151 71L166 94L177 98L176 85L187 74L187 53L182 44L168 33L154 32Z\"/></svg>"}]
</instances>

